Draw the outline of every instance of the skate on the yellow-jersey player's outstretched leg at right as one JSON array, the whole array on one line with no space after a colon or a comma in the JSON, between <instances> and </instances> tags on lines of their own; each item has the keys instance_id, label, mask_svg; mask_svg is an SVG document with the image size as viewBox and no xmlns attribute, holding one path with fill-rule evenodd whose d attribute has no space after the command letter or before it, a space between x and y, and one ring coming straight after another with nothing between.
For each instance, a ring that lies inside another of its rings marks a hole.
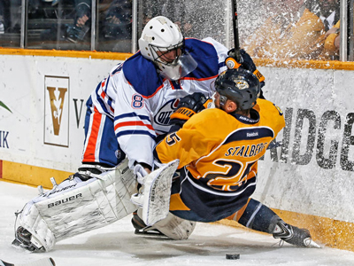
<instances>
[{"instance_id":1,"label":"skate on the yellow-jersey player's outstretched leg at right","mask_svg":"<svg viewBox=\"0 0 354 266\"><path fill-rule=\"evenodd\" d=\"M302 247L320 247L312 240L310 231L307 229L300 229L296 226L284 223L282 220L278 221L273 231L274 239L282 239L285 242Z\"/></svg>"}]
</instances>

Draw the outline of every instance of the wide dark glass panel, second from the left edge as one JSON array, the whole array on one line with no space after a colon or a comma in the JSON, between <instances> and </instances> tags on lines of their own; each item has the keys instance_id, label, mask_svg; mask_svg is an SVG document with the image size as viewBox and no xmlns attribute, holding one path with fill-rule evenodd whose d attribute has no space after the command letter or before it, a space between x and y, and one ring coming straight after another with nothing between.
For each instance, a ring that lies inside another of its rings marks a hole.
<instances>
[{"instance_id":1,"label":"wide dark glass panel, second from the left edge","mask_svg":"<svg viewBox=\"0 0 354 266\"><path fill-rule=\"evenodd\" d=\"M90 50L91 0L28 0L25 47Z\"/></svg>"}]
</instances>

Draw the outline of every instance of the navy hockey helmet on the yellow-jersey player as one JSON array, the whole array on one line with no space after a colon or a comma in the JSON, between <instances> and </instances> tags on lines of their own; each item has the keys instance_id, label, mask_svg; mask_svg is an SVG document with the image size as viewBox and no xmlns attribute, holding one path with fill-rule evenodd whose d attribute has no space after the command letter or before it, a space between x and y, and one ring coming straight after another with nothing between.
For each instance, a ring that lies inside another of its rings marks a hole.
<instances>
[{"instance_id":1,"label":"navy hockey helmet on the yellow-jersey player","mask_svg":"<svg viewBox=\"0 0 354 266\"><path fill-rule=\"evenodd\" d=\"M256 105L260 93L257 76L242 68L227 69L219 74L215 81L215 89L220 95L220 106L227 99L237 104L237 110L248 110Z\"/></svg>"}]
</instances>

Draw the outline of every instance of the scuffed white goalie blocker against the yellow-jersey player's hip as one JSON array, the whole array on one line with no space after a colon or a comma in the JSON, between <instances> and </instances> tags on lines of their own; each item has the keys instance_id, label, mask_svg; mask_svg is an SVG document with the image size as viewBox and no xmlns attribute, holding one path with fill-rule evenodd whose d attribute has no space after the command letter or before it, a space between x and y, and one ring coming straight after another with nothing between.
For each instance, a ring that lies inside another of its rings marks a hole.
<instances>
[{"instance_id":1,"label":"scuffed white goalie blocker against the yellow-jersey player's hip","mask_svg":"<svg viewBox=\"0 0 354 266\"><path fill-rule=\"evenodd\" d=\"M151 226L165 219L170 209L171 185L173 174L180 160L173 160L162 168L144 176L143 192L132 197L133 202L141 200L142 221ZM140 199L136 199L140 198ZM139 205L139 204L138 204Z\"/></svg>"}]
</instances>

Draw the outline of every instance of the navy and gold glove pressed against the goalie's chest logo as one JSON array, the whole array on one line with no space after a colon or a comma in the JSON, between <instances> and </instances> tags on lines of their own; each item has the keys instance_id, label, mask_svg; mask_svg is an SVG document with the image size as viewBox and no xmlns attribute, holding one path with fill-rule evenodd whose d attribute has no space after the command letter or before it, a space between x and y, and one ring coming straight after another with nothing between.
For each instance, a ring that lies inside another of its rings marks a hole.
<instances>
[{"instance_id":1,"label":"navy and gold glove pressed against the goalie's chest logo","mask_svg":"<svg viewBox=\"0 0 354 266\"><path fill-rule=\"evenodd\" d=\"M181 127L193 114L208 108L211 103L212 99L206 98L201 92L195 92L181 98L177 110L170 116L170 124L179 125Z\"/></svg>"}]
</instances>

